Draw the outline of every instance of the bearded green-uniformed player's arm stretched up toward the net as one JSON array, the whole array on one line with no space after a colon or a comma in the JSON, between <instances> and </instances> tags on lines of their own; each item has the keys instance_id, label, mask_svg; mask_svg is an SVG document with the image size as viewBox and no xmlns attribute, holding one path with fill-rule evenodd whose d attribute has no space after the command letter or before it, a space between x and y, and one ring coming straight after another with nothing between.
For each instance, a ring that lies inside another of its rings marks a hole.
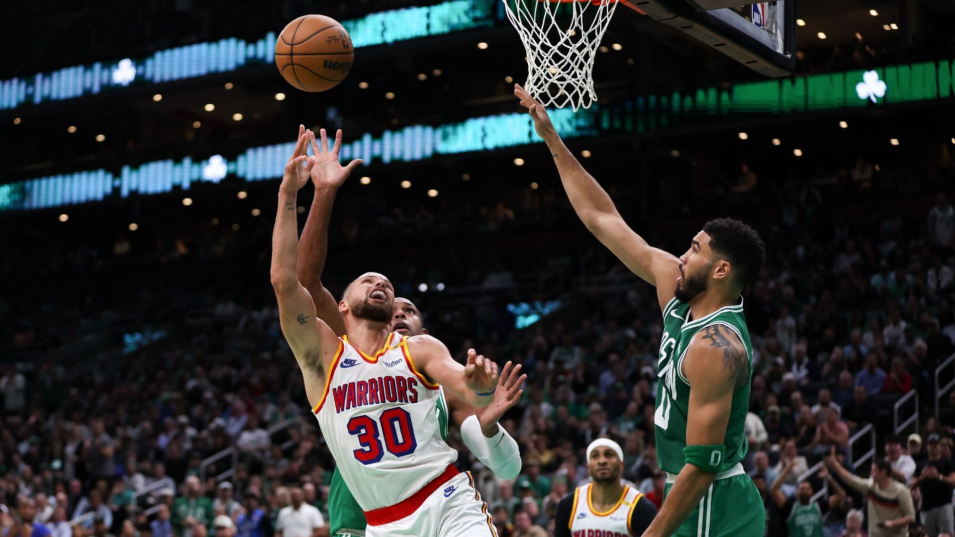
<instances>
[{"instance_id":1,"label":"bearded green-uniformed player's arm stretched up toward the net","mask_svg":"<svg viewBox=\"0 0 955 537\"><path fill-rule=\"evenodd\" d=\"M561 183L577 216L628 269L656 286L660 308L664 309L676 289L680 260L662 249L649 246L647 241L626 225L610 196L563 144L541 103L528 95L520 85L515 84L514 88L514 95L520 98L521 106L528 109L534 119L534 128L550 148L561 174Z\"/></svg>"}]
</instances>

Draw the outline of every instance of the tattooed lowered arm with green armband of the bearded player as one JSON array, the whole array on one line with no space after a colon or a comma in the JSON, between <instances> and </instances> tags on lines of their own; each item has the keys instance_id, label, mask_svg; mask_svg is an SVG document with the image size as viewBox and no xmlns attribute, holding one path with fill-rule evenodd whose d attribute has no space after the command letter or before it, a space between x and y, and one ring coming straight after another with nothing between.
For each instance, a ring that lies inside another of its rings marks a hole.
<instances>
[{"instance_id":1,"label":"tattooed lowered arm with green armband of the bearded player","mask_svg":"<svg viewBox=\"0 0 955 537\"><path fill-rule=\"evenodd\" d=\"M735 333L712 325L690 342L683 375L691 386L684 450L687 463L644 537L667 537L676 531L719 473L726 452L732 393L750 380L749 355Z\"/></svg>"}]
</instances>

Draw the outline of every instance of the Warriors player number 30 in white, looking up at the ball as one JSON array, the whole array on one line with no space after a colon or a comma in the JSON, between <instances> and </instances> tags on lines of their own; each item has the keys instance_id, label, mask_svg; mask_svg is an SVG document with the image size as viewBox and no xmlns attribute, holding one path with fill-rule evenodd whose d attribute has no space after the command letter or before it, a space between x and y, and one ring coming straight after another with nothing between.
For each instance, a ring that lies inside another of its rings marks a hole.
<instances>
[{"instance_id":1,"label":"Warriors player number 30 in white, looking up at the ball","mask_svg":"<svg viewBox=\"0 0 955 537\"><path fill-rule=\"evenodd\" d=\"M497 365L472 349L462 366L430 335L389 332L394 290L376 272L351 282L339 303L347 337L316 318L297 275L296 198L316 161L307 157L308 132L299 133L279 186L271 282L308 401L365 511L366 535L496 536L470 474L457 471L456 451L441 440L435 407L441 386L486 407L497 389Z\"/></svg>"}]
</instances>

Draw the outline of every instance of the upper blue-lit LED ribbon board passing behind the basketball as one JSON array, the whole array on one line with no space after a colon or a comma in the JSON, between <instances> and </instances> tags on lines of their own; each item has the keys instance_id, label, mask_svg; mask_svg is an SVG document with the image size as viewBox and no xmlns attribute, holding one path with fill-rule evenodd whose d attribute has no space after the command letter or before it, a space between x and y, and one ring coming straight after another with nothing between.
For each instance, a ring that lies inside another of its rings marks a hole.
<instances>
[{"instance_id":1,"label":"upper blue-lit LED ribbon board passing behind the basketball","mask_svg":"<svg viewBox=\"0 0 955 537\"><path fill-rule=\"evenodd\" d=\"M401 10L380 11L342 21L356 48L406 41L462 30L494 26L495 0L452 0ZM165 49L140 59L66 67L53 73L0 81L0 110L24 103L40 104L96 95L130 84L159 84L214 73L236 71L246 65L274 61L275 32L256 41L230 37Z\"/></svg>"}]
</instances>

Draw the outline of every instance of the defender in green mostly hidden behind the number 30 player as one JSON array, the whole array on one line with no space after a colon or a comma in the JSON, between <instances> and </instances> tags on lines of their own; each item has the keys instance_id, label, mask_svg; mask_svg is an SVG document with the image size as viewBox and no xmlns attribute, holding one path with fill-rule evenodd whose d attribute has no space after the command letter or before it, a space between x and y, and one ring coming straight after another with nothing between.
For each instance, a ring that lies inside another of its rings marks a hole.
<instances>
[{"instance_id":1,"label":"defender in green mostly hidden behind the number 30 player","mask_svg":"<svg viewBox=\"0 0 955 537\"><path fill-rule=\"evenodd\" d=\"M320 131L321 146L315 137L309 136L316 162L311 168L311 181L315 186L308 220L302 230L299 241L298 275L299 281L315 301L318 318L325 321L332 331L345 335L345 320L338 311L338 304L332 294L322 284L322 271L329 247L329 219L331 206L338 187L345 183L350 167L342 166L338 161L342 131L335 135L335 141L329 150L325 129ZM401 335L413 336L428 333L424 329L421 311L411 300L394 299L394 312L390 329ZM513 479L520 474L520 451L518 442L500 427L498 420L520 400L523 393L520 385L527 377L520 376L520 364L511 369L508 362L499 378L498 391L491 404L475 416L477 409L460 399L441 391L438 397L437 414L442 438L448 435L449 410L455 424L460 428L461 439L477 459L502 479ZM450 408L449 408L450 407ZM354 500L348 486L342 480L341 473L335 468L329 487L329 519L332 535L348 537L365 534L365 514Z\"/></svg>"}]
</instances>

